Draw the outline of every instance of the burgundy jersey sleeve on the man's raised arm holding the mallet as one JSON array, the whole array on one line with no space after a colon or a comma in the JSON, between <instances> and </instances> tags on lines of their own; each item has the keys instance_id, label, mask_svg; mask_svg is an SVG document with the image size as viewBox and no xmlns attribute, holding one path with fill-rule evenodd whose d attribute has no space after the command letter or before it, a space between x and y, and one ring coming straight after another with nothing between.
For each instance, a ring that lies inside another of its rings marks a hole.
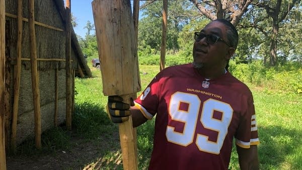
<instances>
[{"instance_id":1,"label":"burgundy jersey sleeve on the man's raised arm holding the mallet","mask_svg":"<svg viewBox=\"0 0 302 170\"><path fill-rule=\"evenodd\" d=\"M146 119L152 119L156 113L159 104L160 81L162 73L149 83L144 91L134 100L137 107Z\"/></svg>"}]
</instances>

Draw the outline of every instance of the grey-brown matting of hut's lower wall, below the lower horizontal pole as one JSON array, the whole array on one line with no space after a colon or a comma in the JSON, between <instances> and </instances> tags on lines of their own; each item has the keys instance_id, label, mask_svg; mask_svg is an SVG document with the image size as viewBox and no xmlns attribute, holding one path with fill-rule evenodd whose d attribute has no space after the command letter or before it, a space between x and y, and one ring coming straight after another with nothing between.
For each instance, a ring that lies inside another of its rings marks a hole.
<instances>
[{"instance_id":1,"label":"grey-brown matting of hut's lower wall, below the lower horizontal pole","mask_svg":"<svg viewBox=\"0 0 302 170\"><path fill-rule=\"evenodd\" d=\"M58 123L63 123L66 113L65 98L65 70L58 72ZM54 127L55 108L55 70L39 72L41 129L45 131ZM34 137L34 108L31 82L31 71L22 68L19 100L19 114L17 122L17 144L28 137Z\"/></svg>"}]
</instances>

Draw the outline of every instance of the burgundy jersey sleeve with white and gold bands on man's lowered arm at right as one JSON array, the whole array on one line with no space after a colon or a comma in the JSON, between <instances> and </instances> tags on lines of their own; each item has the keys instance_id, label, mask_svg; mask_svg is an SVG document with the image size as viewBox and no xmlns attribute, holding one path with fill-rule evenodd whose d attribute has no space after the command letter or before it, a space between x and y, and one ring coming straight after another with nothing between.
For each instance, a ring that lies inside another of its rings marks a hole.
<instances>
[{"instance_id":1,"label":"burgundy jersey sleeve with white and gold bands on man's lowered arm at right","mask_svg":"<svg viewBox=\"0 0 302 170\"><path fill-rule=\"evenodd\" d=\"M242 97L241 106L241 123L235 134L236 144L242 148L250 148L251 145L260 143L252 94L248 97Z\"/></svg>"}]
</instances>

